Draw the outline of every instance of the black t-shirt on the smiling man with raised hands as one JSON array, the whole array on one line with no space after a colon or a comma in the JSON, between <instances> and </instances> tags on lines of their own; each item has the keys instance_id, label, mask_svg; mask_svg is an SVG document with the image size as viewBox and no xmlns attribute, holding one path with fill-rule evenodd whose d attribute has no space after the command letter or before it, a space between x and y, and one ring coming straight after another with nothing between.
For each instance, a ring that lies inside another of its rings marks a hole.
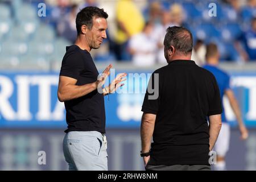
<instances>
[{"instance_id":1,"label":"black t-shirt on the smiling man with raised hands","mask_svg":"<svg viewBox=\"0 0 256 182\"><path fill-rule=\"evenodd\" d=\"M73 45L67 47L61 65L60 76L77 80L76 85L90 84L99 73L90 53ZM97 89L85 96L65 101L66 120L69 131L99 131L105 133L104 95Z\"/></svg>"}]
</instances>

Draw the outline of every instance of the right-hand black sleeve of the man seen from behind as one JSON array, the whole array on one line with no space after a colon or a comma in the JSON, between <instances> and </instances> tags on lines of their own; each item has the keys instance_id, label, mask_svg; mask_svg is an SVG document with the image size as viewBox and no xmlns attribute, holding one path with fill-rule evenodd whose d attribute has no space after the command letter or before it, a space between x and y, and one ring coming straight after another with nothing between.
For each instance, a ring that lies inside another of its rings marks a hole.
<instances>
[{"instance_id":1,"label":"right-hand black sleeve of the man seen from behind","mask_svg":"<svg viewBox=\"0 0 256 182\"><path fill-rule=\"evenodd\" d=\"M213 98L210 100L210 103L209 103L209 111L207 114L208 116L222 113L220 90L218 89L218 84L214 76L212 77L212 82L213 82L214 93L213 93Z\"/></svg>"}]
</instances>

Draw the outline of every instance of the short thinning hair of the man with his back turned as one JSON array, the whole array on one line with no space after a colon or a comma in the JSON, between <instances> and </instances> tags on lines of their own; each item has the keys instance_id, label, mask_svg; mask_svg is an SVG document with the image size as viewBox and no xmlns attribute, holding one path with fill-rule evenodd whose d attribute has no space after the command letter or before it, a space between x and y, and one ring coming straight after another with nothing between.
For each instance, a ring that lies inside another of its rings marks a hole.
<instances>
[{"instance_id":1,"label":"short thinning hair of the man with his back turned","mask_svg":"<svg viewBox=\"0 0 256 182\"><path fill-rule=\"evenodd\" d=\"M164 38L164 46L170 48L174 46L175 49L184 55L192 52L193 37L191 32L184 27L168 27Z\"/></svg>"}]
</instances>

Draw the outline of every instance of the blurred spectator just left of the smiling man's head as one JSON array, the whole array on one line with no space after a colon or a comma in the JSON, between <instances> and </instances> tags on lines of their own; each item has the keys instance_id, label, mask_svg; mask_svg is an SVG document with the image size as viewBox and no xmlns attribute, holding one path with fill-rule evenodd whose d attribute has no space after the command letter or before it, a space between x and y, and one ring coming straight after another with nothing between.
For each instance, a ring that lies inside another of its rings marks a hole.
<instances>
[{"instance_id":1,"label":"blurred spectator just left of the smiling man's head","mask_svg":"<svg viewBox=\"0 0 256 182\"><path fill-rule=\"evenodd\" d=\"M71 12L64 16L63 19L60 19L60 22L57 24L57 32L60 36L65 37L70 42L75 43L76 41L76 10L77 5L73 5Z\"/></svg>"}]
</instances>

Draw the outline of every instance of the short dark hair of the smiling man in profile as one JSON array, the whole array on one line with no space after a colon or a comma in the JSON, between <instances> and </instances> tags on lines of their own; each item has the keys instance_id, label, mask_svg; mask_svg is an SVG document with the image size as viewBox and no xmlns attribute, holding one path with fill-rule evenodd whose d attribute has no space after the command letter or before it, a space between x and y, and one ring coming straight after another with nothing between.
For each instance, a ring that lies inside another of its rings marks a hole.
<instances>
[{"instance_id":1,"label":"short dark hair of the smiling man in profile","mask_svg":"<svg viewBox=\"0 0 256 182\"><path fill-rule=\"evenodd\" d=\"M104 9L99 9L98 7L88 6L79 11L76 15L76 30L77 35L81 32L82 25L86 25L89 30L93 26L93 18L108 18L108 14Z\"/></svg>"}]
</instances>

